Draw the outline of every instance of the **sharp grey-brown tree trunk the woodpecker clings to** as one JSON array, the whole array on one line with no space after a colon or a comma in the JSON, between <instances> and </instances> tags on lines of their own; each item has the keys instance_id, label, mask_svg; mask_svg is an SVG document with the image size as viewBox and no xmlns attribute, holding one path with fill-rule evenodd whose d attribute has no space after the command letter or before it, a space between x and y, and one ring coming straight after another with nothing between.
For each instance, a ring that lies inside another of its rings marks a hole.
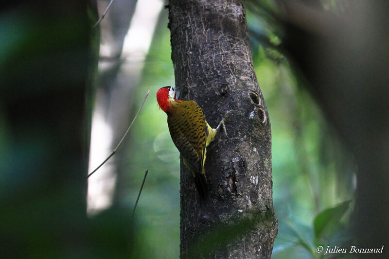
<instances>
[{"instance_id":1,"label":"sharp grey-brown tree trunk the woodpecker clings to","mask_svg":"<svg viewBox=\"0 0 389 259\"><path fill-rule=\"evenodd\" d=\"M200 205L181 161L180 258L270 258L278 232L271 131L248 41L243 0L170 0L169 28L179 99L194 100L229 138L207 149L208 197Z\"/></svg>"}]
</instances>

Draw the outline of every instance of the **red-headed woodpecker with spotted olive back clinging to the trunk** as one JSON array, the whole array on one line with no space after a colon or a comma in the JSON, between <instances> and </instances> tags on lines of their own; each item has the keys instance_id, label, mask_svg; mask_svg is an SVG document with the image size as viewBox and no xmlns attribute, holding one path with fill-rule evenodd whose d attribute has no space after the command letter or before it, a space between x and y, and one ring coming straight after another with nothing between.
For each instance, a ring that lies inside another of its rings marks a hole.
<instances>
[{"instance_id":1,"label":"red-headed woodpecker with spotted olive back clinging to the trunk","mask_svg":"<svg viewBox=\"0 0 389 259\"><path fill-rule=\"evenodd\" d=\"M205 120L201 107L194 101L176 99L176 89L165 86L157 92L159 108L167 114L167 124L173 143L176 145L182 160L195 177L195 185L201 200L207 195L207 178L204 172L207 146L215 138L220 127L224 125L230 111L213 129Z\"/></svg>"}]
</instances>

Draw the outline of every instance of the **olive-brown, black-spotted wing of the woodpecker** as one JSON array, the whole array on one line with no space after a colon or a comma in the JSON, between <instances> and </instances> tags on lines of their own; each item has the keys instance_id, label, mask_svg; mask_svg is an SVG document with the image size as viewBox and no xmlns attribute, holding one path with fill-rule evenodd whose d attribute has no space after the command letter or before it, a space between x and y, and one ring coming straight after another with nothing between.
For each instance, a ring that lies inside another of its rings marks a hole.
<instances>
[{"instance_id":1,"label":"olive-brown, black-spotted wing of the woodpecker","mask_svg":"<svg viewBox=\"0 0 389 259\"><path fill-rule=\"evenodd\" d=\"M202 173L207 127L203 111L193 101L180 102L168 116L170 135L193 173Z\"/></svg>"}]
</instances>

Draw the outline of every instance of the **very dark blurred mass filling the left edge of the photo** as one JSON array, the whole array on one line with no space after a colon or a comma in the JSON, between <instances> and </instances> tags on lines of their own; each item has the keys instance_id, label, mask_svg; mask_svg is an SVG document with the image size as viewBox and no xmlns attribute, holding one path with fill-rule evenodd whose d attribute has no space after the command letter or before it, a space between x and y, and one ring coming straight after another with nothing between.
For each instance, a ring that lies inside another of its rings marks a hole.
<instances>
[{"instance_id":1,"label":"very dark blurred mass filling the left edge of the photo","mask_svg":"<svg viewBox=\"0 0 389 259\"><path fill-rule=\"evenodd\" d=\"M87 8L67 0L1 6L2 258L78 258L87 243Z\"/></svg>"}]
</instances>

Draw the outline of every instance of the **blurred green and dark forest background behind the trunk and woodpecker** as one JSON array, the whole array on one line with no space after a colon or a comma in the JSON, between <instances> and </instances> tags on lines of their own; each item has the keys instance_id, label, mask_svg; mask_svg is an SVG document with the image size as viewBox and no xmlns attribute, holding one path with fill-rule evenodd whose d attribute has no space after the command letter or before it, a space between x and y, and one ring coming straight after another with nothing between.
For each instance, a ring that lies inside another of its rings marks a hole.
<instances>
[{"instance_id":1,"label":"blurred green and dark forest background behind the trunk and woodpecker","mask_svg":"<svg viewBox=\"0 0 389 259\"><path fill-rule=\"evenodd\" d=\"M108 1L1 4L2 255L178 258L179 154L155 100L174 85L170 32L166 3L144 2L115 0L95 29ZM388 245L388 2L246 8L272 124L272 257Z\"/></svg>"}]
</instances>

